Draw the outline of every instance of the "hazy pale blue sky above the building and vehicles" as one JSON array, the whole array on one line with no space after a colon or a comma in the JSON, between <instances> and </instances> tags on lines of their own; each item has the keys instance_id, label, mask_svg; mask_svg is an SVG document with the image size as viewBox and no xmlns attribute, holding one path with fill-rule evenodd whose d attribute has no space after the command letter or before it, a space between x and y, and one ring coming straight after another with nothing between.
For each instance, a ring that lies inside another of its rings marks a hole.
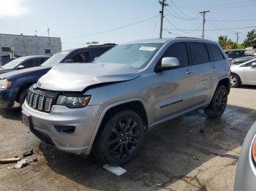
<instances>
[{"instance_id":1,"label":"hazy pale blue sky above the building and vehicles","mask_svg":"<svg viewBox=\"0 0 256 191\"><path fill-rule=\"evenodd\" d=\"M256 29L256 0L166 0L163 37L227 35L243 42ZM84 42L159 38L158 0L0 0L0 33L61 37L62 50ZM247 28L248 27L248 28ZM221 29L221 30L217 30ZM190 30L190 31L189 31Z\"/></svg>"}]
</instances>

